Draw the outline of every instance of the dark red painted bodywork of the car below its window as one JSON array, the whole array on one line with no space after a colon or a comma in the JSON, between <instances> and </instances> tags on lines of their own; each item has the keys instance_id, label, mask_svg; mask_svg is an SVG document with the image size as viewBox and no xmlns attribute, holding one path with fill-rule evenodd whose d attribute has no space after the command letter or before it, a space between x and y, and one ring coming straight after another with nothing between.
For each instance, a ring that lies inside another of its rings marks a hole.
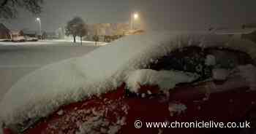
<instances>
[{"instance_id":1,"label":"dark red painted bodywork of the car below its window","mask_svg":"<svg viewBox=\"0 0 256 134\"><path fill-rule=\"evenodd\" d=\"M126 124L121 125L118 133L158 133L158 128L146 128L143 126L136 129L134 122L140 119L142 122L242 122L249 110L255 106L256 91L248 90L248 87L239 87L224 92L214 92L205 99L202 92L202 85L189 87L176 87L170 91L169 98L165 95L127 96L124 84L117 90L108 92L100 97L92 97L78 103L71 103L61 107L46 119L42 119L24 133L75 133L79 131L77 122L86 122L87 117L92 113L83 113L89 109L105 109L104 118L109 122L116 122L117 117L125 117ZM142 89L149 89L157 92L157 86L142 86ZM183 92L182 90L194 90L193 92ZM182 91L182 92L181 92ZM182 97L184 96L184 97ZM167 100L166 100L167 99ZM186 111L170 114L170 103L184 104ZM111 107L113 107L111 109ZM106 107L109 109L106 110ZM126 107L127 111L124 108ZM59 114L63 111L63 114ZM83 112L82 112L83 111ZM127 112L127 113L126 113ZM71 119L72 117L72 119ZM92 116L91 118L93 118ZM54 126L54 127L53 127ZM109 126L108 126L109 127ZM96 129L97 130L97 129ZM98 129L99 130L99 129ZM210 129L162 129L163 133L238 133L233 129L210 130ZM100 132L100 130L99 130Z\"/></svg>"}]
</instances>

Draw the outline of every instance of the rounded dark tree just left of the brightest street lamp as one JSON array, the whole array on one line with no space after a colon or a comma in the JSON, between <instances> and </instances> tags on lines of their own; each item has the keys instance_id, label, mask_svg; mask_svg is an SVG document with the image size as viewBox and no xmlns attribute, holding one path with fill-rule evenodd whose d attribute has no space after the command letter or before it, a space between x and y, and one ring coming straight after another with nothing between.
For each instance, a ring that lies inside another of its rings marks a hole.
<instances>
[{"instance_id":1,"label":"rounded dark tree just left of the brightest street lamp","mask_svg":"<svg viewBox=\"0 0 256 134\"><path fill-rule=\"evenodd\" d=\"M82 43L83 36L86 36L87 28L86 23L80 17L74 17L72 20L67 22L66 26L66 35L73 36L74 42L76 42L75 37L80 36L80 40Z\"/></svg>"}]
</instances>

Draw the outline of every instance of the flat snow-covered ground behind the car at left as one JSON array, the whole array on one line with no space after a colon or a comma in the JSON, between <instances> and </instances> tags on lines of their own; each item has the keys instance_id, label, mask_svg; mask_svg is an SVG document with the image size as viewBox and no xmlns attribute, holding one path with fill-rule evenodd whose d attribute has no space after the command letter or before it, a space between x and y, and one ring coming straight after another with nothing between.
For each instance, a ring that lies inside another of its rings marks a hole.
<instances>
[{"instance_id":1,"label":"flat snow-covered ground behind the car at left","mask_svg":"<svg viewBox=\"0 0 256 134\"><path fill-rule=\"evenodd\" d=\"M94 42L83 42L81 46L63 40L0 42L0 101L11 85L25 74L49 63L85 55L95 48Z\"/></svg>"}]
</instances>

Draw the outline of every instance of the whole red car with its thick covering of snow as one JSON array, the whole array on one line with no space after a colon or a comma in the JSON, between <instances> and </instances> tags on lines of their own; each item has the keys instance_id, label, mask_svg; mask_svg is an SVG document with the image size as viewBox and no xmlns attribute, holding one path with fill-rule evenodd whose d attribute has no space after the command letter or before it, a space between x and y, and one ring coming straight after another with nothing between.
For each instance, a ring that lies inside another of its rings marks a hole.
<instances>
[{"instance_id":1,"label":"whole red car with its thick covering of snow","mask_svg":"<svg viewBox=\"0 0 256 134\"><path fill-rule=\"evenodd\" d=\"M255 60L255 43L228 36L126 36L20 79L0 103L3 132L250 133L170 123L247 121L253 127Z\"/></svg>"}]
</instances>

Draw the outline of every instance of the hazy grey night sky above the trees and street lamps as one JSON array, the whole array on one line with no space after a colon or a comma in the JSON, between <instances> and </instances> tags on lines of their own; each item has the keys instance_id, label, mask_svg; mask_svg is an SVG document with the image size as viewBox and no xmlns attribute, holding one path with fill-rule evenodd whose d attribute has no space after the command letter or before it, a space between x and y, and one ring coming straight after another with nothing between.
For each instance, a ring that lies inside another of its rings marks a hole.
<instances>
[{"instance_id":1,"label":"hazy grey night sky above the trees and street lamps","mask_svg":"<svg viewBox=\"0 0 256 134\"><path fill-rule=\"evenodd\" d=\"M130 12L138 12L148 29L206 29L256 23L256 0L45 0L42 29L54 31L74 16L88 23L124 23ZM17 19L4 23L36 30L35 17L20 10Z\"/></svg>"}]
</instances>

